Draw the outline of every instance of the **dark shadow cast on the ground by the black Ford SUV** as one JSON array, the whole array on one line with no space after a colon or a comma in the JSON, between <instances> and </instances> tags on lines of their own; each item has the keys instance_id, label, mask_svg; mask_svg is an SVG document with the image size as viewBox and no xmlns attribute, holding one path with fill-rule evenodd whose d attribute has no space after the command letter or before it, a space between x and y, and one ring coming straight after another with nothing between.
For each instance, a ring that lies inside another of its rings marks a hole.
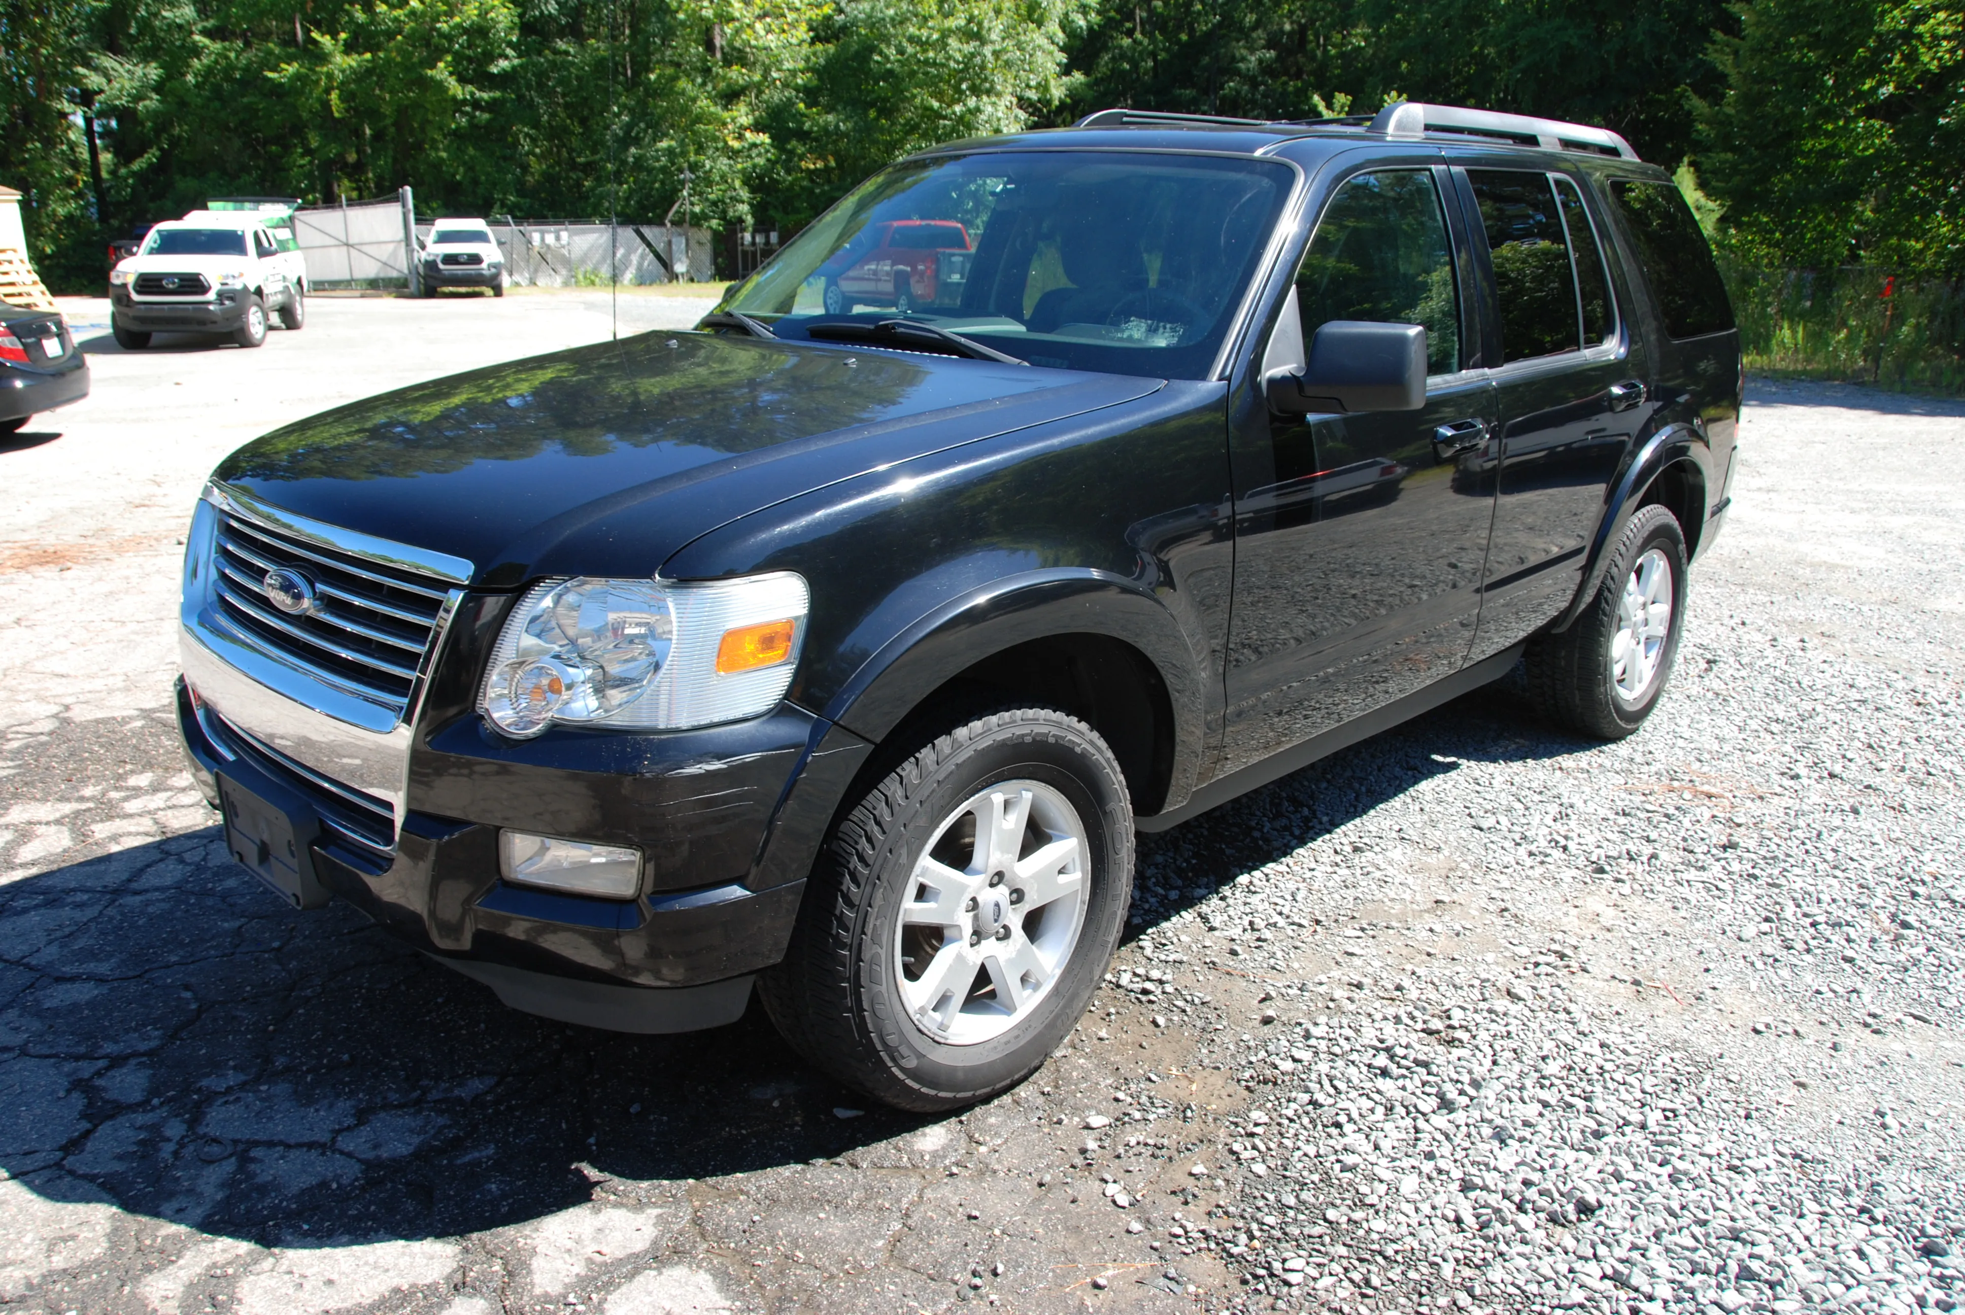
<instances>
[{"instance_id":1,"label":"dark shadow cast on the ground by the black Ford SUV","mask_svg":"<svg viewBox=\"0 0 1965 1315\"><path fill-rule=\"evenodd\" d=\"M118 757L138 767L171 749L163 727L136 739ZM1132 932L1458 761L1582 747L1505 686L1470 694L1144 837ZM605 1177L837 1158L929 1122L806 1067L757 1002L686 1036L513 1012L344 904L293 912L218 828L0 885L0 1170L47 1199L265 1246L456 1236Z\"/></svg>"}]
</instances>

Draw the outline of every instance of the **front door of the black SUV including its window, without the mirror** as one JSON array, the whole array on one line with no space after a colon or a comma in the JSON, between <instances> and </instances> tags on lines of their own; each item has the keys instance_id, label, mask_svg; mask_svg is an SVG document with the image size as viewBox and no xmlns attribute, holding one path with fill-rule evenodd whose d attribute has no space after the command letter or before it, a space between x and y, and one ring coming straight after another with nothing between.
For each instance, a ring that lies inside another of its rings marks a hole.
<instances>
[{"instance_id":1,"label":"front door of the black SUV including its window, without the mirror","mask_svg":"<svg viewBox=\"0 0 1965 1315\"><path fill-rule=\"evenodd\" d=\"M1419 411L1271 421L1273 480L1236 489L1228 727L1246 767L1460 670L1493 509L1493 387L1472 372L1444 169L1344 181L1297 271L1326 320L1427 328Z\"/></svg>"}]
</instances>

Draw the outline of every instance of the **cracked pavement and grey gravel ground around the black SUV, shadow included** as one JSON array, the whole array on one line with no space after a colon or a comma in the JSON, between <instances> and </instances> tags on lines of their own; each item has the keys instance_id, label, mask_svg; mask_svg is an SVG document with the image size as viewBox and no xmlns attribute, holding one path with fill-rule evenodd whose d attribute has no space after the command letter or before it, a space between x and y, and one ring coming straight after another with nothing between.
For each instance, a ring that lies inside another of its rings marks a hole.
<instances>
[{"instance_id":1,"label":"cracked pavement and grey gravel ground around the black SUV, shadow included","mask_svg":"<svg viewBox=\"0 0 1965 1315\"><path fill-rule=\"evenodd\" d=\"M112 370L124 415L155 395ZM513 1014L228 867L143 576L218 438L165 438L104 409L0 452L0 1311L1965 1299L1965 407L1757 381L1641 735L1501 684L1146 837L1093 1014L939 1120L855 1109L755 1014ZM33 607L132 580L94 631Z\"/></svg>"}]
</instances>

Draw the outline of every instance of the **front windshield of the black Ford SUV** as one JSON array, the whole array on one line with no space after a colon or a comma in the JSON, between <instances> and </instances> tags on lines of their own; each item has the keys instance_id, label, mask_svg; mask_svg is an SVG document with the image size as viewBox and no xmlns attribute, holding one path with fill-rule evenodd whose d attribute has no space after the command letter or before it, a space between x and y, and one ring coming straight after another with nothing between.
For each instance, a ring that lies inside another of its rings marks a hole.
<instances>
[{"instance_id":1,"label":"front windshield of the black Ford SUV","mask_svg":"<svg viewBox=\"0 0 1965 1315\"><path fill-rule=\"evenodd\" d=\"M1275 161L1207 155L910 161L819 216L721 309L780 338L904 316L1032 366L1199 379L1289 179Z\"/></svg>"}]
</instances>

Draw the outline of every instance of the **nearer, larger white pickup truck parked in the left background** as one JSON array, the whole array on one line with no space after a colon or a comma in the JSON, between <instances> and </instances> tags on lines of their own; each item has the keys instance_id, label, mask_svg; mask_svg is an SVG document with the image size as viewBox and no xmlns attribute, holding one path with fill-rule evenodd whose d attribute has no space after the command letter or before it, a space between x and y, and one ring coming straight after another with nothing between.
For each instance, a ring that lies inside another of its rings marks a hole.
<instances>
[{"instance_id":1,"label":"nearer, larger white pickup truck parked in the left background","mask_svg":"<svg viewBox=\"0 0 1965 1315\"><path fill-rule=\"evenodd\" d=\"M293 236L275 238L253 212L165 220L110 269L110 328L128 350L149 346L155 332L230 334L255 348L269 313L281 328L307 322L307 265Z\"/></svg>"}]
</instances>

